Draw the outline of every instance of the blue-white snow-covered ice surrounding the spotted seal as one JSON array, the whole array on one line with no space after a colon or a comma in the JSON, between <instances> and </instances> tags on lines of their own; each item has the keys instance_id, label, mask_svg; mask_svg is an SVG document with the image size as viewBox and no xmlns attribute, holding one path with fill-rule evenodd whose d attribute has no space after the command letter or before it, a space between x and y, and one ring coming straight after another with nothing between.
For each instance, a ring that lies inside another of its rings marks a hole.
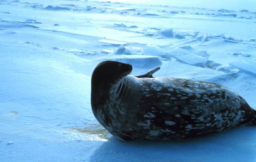
<instances>
[{"instance_id":1,"label":"blue-white snow-covered ice surrounding the spotted seal","mask_svg":"<svg viewBox=\"0 0 256 162\"><path fill-rule=\"evenodd\" d=\"M94 118L103 60L223 84L256 108L254 0L0 1L0 161L256 161L256 127L122 142Z\"/></svg>"}]
</instances>

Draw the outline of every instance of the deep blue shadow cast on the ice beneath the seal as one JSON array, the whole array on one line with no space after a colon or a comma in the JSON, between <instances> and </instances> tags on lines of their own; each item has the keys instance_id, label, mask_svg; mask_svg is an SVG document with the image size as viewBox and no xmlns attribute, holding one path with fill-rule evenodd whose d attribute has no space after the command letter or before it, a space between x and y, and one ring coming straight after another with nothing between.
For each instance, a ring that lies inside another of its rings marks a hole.
<instances>
[{"instance_id":1,"label":"deep blue shadow cast on the ice beneath the seal","mask_svg":"<svg viewBox=\"0 0 256 162\"><path fill-rule=\"evenodd\" d=\"M256 161L256 127L237 127L186 140L128 141L112 136L90 161Z\"/></svg>"}]
</instances>

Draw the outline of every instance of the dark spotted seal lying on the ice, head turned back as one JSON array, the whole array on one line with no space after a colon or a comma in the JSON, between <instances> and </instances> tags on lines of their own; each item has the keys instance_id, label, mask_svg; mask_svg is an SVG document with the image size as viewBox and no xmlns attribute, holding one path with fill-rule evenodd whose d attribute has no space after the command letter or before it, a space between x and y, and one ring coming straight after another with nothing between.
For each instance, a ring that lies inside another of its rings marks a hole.
<instances>
[{"instance_id":1,"label":"dark spotted seal lying on the ice, head turned back","mask_svg":"<svg viewBox=\"0 0 256 162\"><path fill-rule=\"evenodd\" d=\"M185 139L256 125L256 111L217 83L132 76L132 66L104 61L92 73L92 112L121 140Z\"/></svg>"}]
</instances>

